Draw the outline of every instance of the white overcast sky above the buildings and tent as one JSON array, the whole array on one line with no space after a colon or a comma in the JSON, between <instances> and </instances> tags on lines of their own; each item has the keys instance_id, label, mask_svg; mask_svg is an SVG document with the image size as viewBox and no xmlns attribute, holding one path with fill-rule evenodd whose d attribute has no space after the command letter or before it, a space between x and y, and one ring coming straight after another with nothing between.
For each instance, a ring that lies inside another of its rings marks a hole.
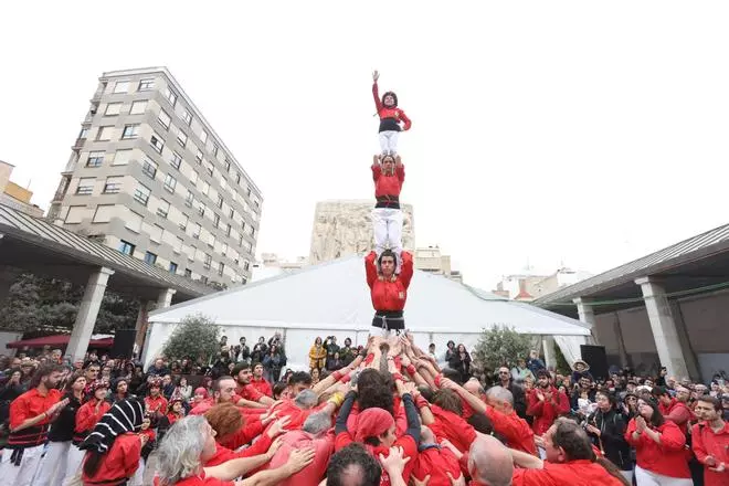
<instances>
[{"instance_id":1,"label":"white overcast sky above the buildings and tent","mask_svg":"<svg viewBox=\"0 0 729 486\"><path fill-rule=\"evenodd\" d=\"M729 222L728 2L229 3L0 7L0 159L36 204L98 76L166 65L263 191L257 252L307 255L317 200L373 196L379 68L416 243L472 285Z\"/></svg>"}]
</instances>

